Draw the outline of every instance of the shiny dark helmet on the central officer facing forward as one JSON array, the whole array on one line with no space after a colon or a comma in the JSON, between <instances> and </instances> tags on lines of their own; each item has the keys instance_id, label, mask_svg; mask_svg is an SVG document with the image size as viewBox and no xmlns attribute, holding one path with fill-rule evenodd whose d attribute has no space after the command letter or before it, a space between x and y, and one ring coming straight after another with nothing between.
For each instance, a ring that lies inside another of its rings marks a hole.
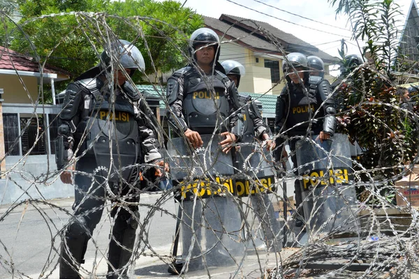
<instances>
[{"instance_id":1,"label":"shiny dark helmet on the central officer facing forward","mask_svg":"<svg viewBox=\"0 0 419 279\"><path fill-rule=\"evenodd\" d=\"M219 36L210 28L200 28L196 29L189 39L189 52L191 52L191 57L196 59L195 51L197 50L198 45L214 45L215 47L215 57L214 62L218 62L220 57L220 40Z\"/></svg>"}]
</instances>

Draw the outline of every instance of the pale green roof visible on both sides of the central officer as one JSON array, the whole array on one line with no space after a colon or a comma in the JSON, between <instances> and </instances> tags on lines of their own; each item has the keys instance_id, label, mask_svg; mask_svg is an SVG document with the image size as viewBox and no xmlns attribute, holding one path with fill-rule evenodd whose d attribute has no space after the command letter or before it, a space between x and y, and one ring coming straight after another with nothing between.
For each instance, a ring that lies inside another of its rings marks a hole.
<instances>
[{"instance_id":1,"label":"pale green roof visible on both sides of the central officer","mask_svg":"<svg viewBox=\"0 0 419 279\"><path fill-rule=\"evenodd\" d=\"M159 85L137 85L140 92L147 91L154 96L163 98L166 96L166 87L161 87ZM262 112L264 117L273 118L275 117L275 106L277 104L277 95L268 95L268 94L257 94L257 93L244 93L240 94L250 95L253 100L258 100L262 103ZM160 108L166 108L166 105L161 100Z\"/></svg>"}]
</instances>

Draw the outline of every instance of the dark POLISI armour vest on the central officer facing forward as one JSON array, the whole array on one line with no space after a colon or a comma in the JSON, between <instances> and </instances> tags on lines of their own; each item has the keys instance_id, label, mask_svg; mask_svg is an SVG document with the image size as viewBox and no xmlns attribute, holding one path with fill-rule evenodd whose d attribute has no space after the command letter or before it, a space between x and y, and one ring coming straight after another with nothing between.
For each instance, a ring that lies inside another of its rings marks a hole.
<instances>
[{"instance_id":1,"label":"dark POLISI armour vest on the central officer facing forward","mask_svg":"<svg viewBox=\"0 0 419 279\"><path fill-rule=\"evenodd\" d=\"M213 76L186 76L184 116L188 127L200 134L225 131L229 114L226 86L221 78Z\"/></svg>"}]
</instances>

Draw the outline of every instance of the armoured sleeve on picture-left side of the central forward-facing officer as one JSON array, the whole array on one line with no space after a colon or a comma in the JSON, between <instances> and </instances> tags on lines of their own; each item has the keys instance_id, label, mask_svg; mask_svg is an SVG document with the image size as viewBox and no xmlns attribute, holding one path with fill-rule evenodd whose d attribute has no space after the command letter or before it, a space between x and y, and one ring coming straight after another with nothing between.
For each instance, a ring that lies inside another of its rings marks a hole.
<instances>
[{"instance_id":1,"label":"armoured sleeve on picture-left side of the central forward-facing officer","mask_svg":"<svg viewBox=\"0 0 419 279\"><path fill-rule=\"evenodd\" d=\"M166 110L166 116L172 129L178 135L183 134L188 129L188 124L183 115L183 93L184 93L184 78L179 74L174 73L168 79L166 88L166 96L168 99L169 109Z\"/></svg>"}]
</instances>

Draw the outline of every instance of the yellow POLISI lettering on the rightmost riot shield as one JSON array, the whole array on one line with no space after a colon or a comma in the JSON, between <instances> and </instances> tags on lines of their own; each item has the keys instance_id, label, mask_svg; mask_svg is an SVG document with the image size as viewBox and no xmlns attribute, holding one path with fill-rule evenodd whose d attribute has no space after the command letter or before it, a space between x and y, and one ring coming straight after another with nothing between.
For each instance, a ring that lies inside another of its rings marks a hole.
<instances>
[{"instance_id":1,"label":"yellow POLISI lettering on the rightmost riot shield","mask_svg":"<svg viewBox=\"0 0 419 279\"><path fill-rule=\"evenodd\" d=\"M304 189L308 190L318 185L340 184L344 185L349 183L349 169L330 169L330 170L314 170L311 173L302 176L302 185ZM328 175L326 177L325 175Z\"/></svg>"}]
</instances>

